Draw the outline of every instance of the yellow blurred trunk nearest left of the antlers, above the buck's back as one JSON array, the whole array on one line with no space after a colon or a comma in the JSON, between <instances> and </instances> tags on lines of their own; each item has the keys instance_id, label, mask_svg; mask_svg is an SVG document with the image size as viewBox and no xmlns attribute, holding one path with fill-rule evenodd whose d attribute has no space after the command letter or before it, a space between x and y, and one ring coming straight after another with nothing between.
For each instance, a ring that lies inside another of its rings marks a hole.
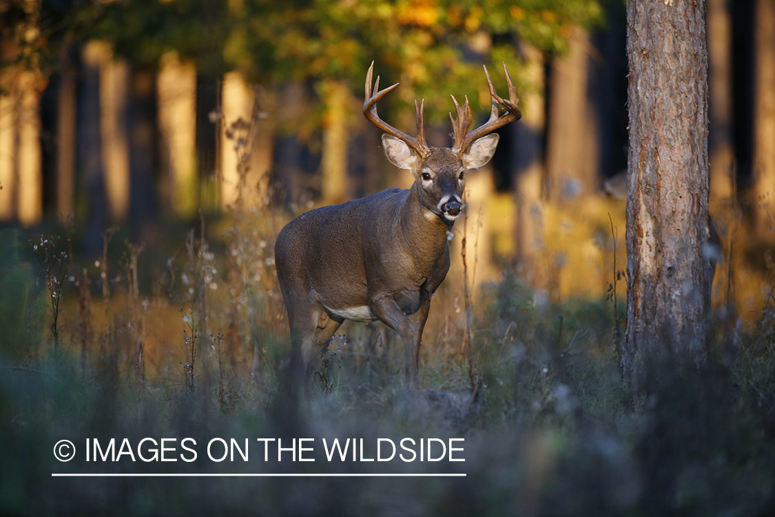
<instances>
[{"instance_id":1,"label":"yellow blurred trunk nearest left of the antlers, above the buck's back","mask_svg":"<svg viewBox=\"0 0 775 517\"><path fill-rule=\"evenodd\" d=\"M343 81L330 81L322 87L325 102L320 191L325 205L345 202L349 197L347 147L350 143L350 87Z\"/></svg>"}]
</instances>

